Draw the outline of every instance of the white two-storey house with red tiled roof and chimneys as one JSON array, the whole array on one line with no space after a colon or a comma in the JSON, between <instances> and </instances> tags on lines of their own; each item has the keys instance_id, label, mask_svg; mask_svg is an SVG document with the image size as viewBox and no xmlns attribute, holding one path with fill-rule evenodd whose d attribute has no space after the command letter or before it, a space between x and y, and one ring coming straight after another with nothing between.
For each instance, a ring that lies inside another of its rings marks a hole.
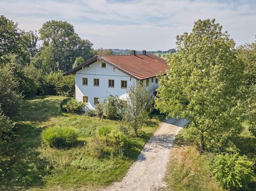
<instances>
[{"instance_id":1,"label":"white two-storey house with red tiled roof and chimneys","mask_svg":"<svg viewBox=\"0 0 256 191\"><path fill-rule=\"evenodd\" d=\"M126 90L132 84L143 84L149 93L156 92L157 75L165 74L166 61L154 54L95 56L66 72L75 75L75 98L92 109L109 94L126 98Z\"/></svg>"}]
</instances>

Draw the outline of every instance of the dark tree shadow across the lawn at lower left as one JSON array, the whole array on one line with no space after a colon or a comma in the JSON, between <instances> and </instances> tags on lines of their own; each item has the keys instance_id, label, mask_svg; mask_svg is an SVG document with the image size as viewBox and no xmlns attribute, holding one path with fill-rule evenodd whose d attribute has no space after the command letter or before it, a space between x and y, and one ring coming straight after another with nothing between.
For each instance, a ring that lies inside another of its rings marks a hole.
<instances>
[{"instance_id":1,"label":"dark tree shadow across the lawn at lower left","mask_svg":"<svg viewBox=\"0 0 256 191\"><path fill-rule=\"evenodd\" d=\"M27 190L43 186L50 162L40 156L42 128L19 123L16 137L0 148L0 190Z\"/></svg>"}]
</instances>

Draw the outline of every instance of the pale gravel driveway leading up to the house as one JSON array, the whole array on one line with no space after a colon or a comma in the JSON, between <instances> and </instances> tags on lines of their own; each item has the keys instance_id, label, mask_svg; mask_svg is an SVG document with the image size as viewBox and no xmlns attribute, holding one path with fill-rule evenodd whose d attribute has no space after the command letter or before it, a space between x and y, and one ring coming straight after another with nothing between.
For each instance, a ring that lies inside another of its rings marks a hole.
<instances>
[{"instance_id":1,"label":"pale gravel driveway leading up to the house","mask_svg":"<svg viewBox=\"0 0 256 191\"><path fill-rule=\"evenodd\" d=\"M186 123L173 118L162 122L124 179L100 191L150 191L164 187L163 178L175 135Z\"/></svg>"}]
</instances>

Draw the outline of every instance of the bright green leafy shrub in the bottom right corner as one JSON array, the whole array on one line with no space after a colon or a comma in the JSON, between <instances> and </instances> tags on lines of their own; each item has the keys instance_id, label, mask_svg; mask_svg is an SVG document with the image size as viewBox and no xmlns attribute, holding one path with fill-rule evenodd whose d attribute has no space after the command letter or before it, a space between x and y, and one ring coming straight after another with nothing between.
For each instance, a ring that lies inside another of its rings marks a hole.
<instances>
[{"instance_id":1,"label":"bright green leafy shrub in the bottom right corner","mask_svg":"<svg viewBox=\"0 0 256 191\"><path fill-rule=\"evenodd\" d=\"M214 179L225 189L247 190L254 178L253 162L238 154L217 155L211 164Z\"/></svg>"}]
</instances>

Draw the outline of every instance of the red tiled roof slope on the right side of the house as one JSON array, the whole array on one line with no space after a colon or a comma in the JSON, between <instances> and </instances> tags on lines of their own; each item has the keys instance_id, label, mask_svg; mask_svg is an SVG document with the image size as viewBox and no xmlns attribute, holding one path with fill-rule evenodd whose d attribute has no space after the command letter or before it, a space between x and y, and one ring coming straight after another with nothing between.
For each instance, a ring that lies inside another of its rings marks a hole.
<instances>
[{"instance_id":1,"label":"red tiled roof slope on the right side of the house","mask_svg":"<svg viewBox=\"0 0 256 191\"><path fill-rule=\"evenodd\" d=\"M169 69L167 62L154 54L100 57L140 80L165 74Z\"/></svg>"}]
</instances>

